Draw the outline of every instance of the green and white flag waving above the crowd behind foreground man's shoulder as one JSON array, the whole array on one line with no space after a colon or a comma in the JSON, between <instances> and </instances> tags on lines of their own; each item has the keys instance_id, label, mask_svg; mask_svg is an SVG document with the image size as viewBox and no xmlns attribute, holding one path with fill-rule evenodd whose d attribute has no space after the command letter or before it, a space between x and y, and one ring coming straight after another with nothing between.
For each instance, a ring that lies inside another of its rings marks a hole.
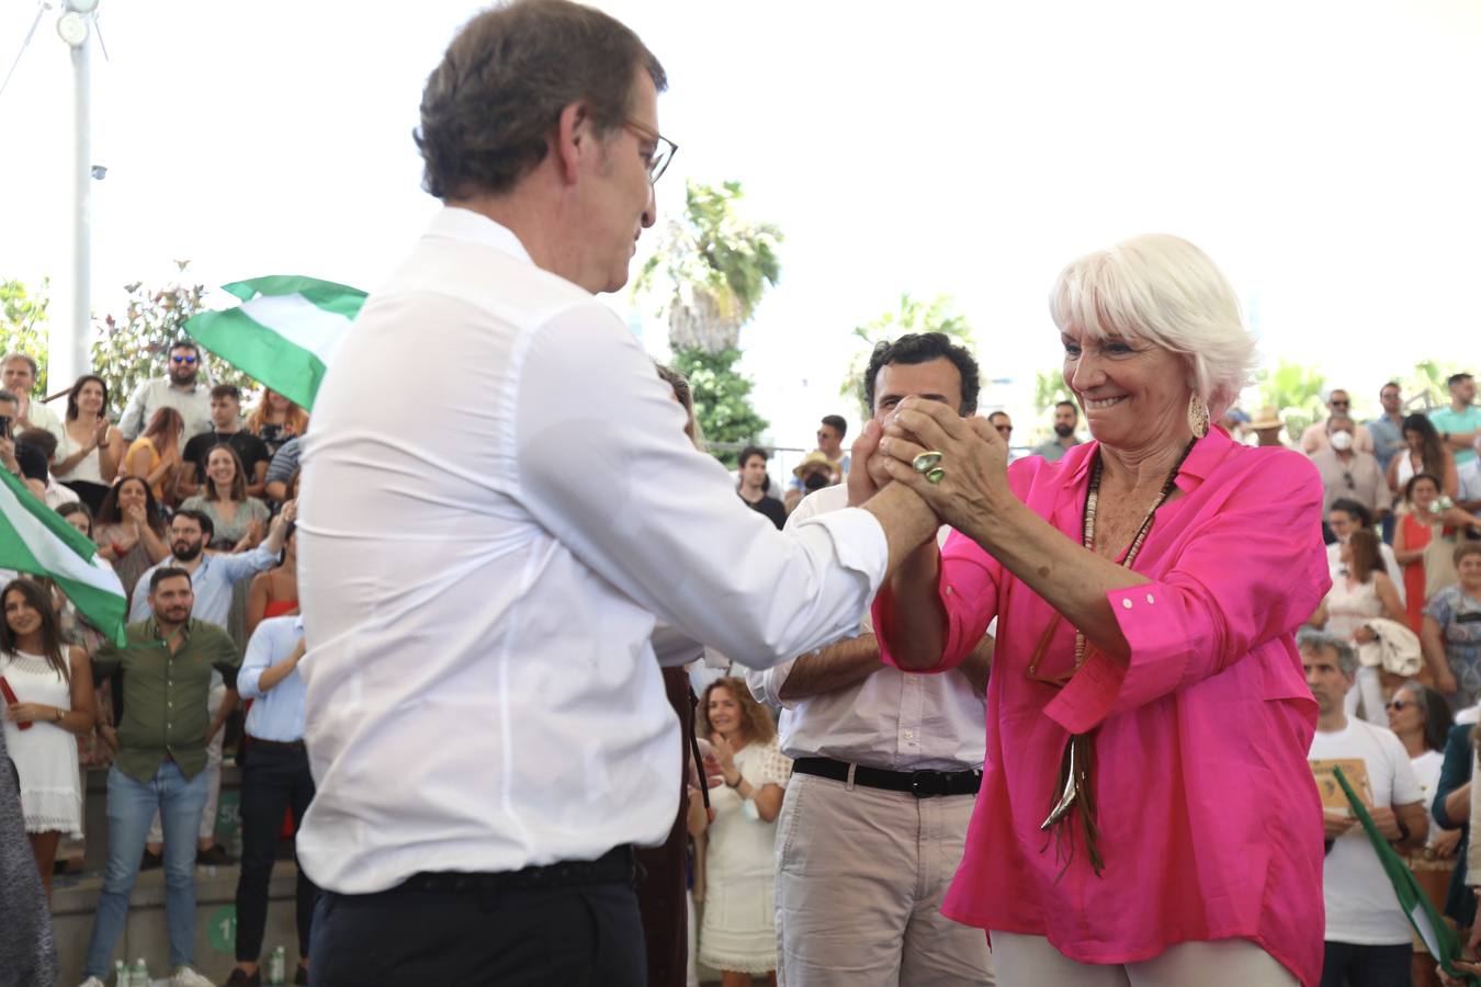
<instances>
[{"instance_id":1,"label":"green and white flag waving above the crowd behind foreground man's shoulder","mask_svg":"<svg viewBox=\"0 0 1481 987\"><path fill-rule=\"evenodd\" d=\"M299 407L312 408L324 370L350 333L366 293L295 275L222 287L240 297L241 305L201 312L185 321L185 331L253 380Z\"/></svg>"}]
</instances>

